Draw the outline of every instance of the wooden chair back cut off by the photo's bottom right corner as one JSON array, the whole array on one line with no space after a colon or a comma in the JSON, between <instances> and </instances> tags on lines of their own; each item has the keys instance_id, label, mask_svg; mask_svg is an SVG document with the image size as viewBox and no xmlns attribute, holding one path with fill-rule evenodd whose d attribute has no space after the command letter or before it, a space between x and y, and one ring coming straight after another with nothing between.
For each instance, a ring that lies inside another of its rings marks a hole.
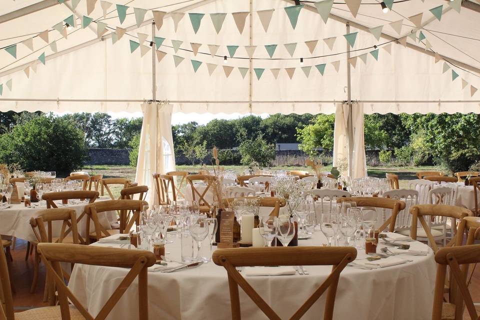
<instances>
[{"instance_id":1,"label":"wooden chair back cut off by the photo's bottom right corner","mask_svg":"<svg viewBox=\"0 0 480 320\"><path fill-rule=\"evenodd\" d=\"M468 290L467 271L469 264L480 262L480 244L444 247L435 253L437 262L435 289L433 296L432 320L442 319L443 293L447 266L458 294L453 301L455 306L455 319L465 319L463 316L463 303L465 303L469 319L477 320L479 315L473 304ZM461 268L460 268L461 266Z\"/></svg>"}]
</instances>

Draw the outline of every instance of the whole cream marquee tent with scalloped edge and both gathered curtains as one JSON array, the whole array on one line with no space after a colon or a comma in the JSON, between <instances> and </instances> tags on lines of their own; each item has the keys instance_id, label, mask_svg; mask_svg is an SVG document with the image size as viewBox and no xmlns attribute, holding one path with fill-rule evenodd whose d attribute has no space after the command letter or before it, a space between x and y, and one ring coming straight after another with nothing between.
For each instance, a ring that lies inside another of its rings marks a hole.
<instances>
[{"instance_id":1,"label":"whole cream marquee tent with scalloped edge and both gathered curtains","mask_svg":"<svg viewBox=\"0 0 480 320\"><path fill-rule=\"evenodd\" d=\"M139 183L174 166L172 112L336 112L335 154L350 156L354 176L365 172L363 113L480 112L480 4L473 0L396 0L387 13L380 0L335 0L326 23L314 1L301 1L295 28L284 10L291 0L2 2L0 110L142 110ZM122 23L117 4L128 6ZM440 5L439 20L430 9L438 15ZM133 8L147 9L143 20ZM163 11L159 28L152 10ZM205 13L196 33L188 13ZM227 13L219 14L218 32L211 13ZM57 24L71 15L76 27ZM85 28L83 16L93 19ZM242 32L238 16L246 16ZM369 29L380 25L377 39ZM118 40L117 27L125 29ZM354 32L350 46L343 35ZM157 48L154 37L164 38ZM132 53L130 41L140 44ZM233 55L227 45L238 46Z\"/></svg>"}]
</instances>

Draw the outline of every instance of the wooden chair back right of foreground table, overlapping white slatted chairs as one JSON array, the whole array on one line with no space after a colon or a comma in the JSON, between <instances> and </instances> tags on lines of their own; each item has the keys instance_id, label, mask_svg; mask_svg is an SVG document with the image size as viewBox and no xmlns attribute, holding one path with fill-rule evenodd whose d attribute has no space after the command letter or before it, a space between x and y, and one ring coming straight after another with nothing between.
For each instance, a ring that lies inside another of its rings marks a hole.
<instances>
[{"instance_id":1,"label":"wooden chair back right of foreground table, overlapping white slatted chairs","mask_svg":"<svg viewBox=\"0 0 480 320\"><path fill-rule=\"evenodd\" d=\"M456 205L448 205L448 204L417 204L410 207L410 214L411 217L411 229L410 229L410 237L413 240L416 240L416 231L418 221L420 221L421 226L423 227L423 231L425 231L426 236L428 238L428 243L430 244L433 252L438 251L438 246L433 239L431 234L429 222L425 220L426 216L437 216L437 217L450 217L454 219L462 219L465 216L471 216L472 213L470 210L462 208ZM430 220L430 219L428 219ZM463 236L463 234L459 235L458 231L455 236L452 236L452 239L448 242L447 246L455 245L458 242L457 237Z\"/></svg>"}]
</instances>

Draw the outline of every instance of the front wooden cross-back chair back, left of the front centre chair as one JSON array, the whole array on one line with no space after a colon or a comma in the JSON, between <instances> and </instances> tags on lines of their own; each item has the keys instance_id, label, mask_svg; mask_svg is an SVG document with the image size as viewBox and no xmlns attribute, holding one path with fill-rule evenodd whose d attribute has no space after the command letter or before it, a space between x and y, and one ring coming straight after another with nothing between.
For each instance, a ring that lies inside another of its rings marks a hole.
<instances>
[{"instance_id":1,"label":"front wooden cross-back chair back, left of the front centre chair","mask_svg":"<svg viewBox=\"0 0 480 320\"><path fill-rule=\"evenodd\" d=\"M147 268L156 261L152 252L63 243L40 243L38 250L48 277L57 288L62 319L70 319L68 301L71 301L85 319L93 319L93 316L65 285L60 262L128 268L128 272L125 271L125 277L107 299L95 319L104 319L137 277L135 290L138 291L138 318L140 320L148 319Z\"/></svg>"}]
</instances>

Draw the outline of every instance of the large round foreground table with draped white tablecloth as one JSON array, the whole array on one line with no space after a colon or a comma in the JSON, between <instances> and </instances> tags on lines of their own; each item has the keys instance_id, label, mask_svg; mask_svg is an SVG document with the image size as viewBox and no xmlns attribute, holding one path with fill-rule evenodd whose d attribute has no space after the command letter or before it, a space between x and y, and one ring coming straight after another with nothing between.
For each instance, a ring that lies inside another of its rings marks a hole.
<instances>
[{"instance_id":1,"label":"large round foreground table with draped white tablecloth","mask_svg":"<svg viewBox=\"0 0 480 320\"><path fill-rule=\"evenodd\" d=\"M180 258L179 239L166 245L171 259ZM326 243L321 232L300 245ZM420 242L416 246L424 246ZM116 246L111 243L93 245ZM381 247L381 244L380 244ZM244 250L245 248L238 248ZM363 250L360 250L363 251ZM360 252L357 260L365 258ZM346 266L340 274L334 305L334 319L428 319L431 317L436 265L428 248L426 256L407 256L412 262L373 270ZM151 268L151 267L150 267ZM305 266L309 275L246 276L246 280L281 318L290 317L326 278L331 266ZM75 264L68 287L95 316L128 272L125 268ZM243 274L244 272L241 272ZM137 319L137 280L127 289L108 319ZM266 316L241 290L244 319ZM324 293L302 319L321 319ZM172 272L148 272L150 319L231 318L227 274L211 261L197 268Z\"/></svg>"}]
</instances>

